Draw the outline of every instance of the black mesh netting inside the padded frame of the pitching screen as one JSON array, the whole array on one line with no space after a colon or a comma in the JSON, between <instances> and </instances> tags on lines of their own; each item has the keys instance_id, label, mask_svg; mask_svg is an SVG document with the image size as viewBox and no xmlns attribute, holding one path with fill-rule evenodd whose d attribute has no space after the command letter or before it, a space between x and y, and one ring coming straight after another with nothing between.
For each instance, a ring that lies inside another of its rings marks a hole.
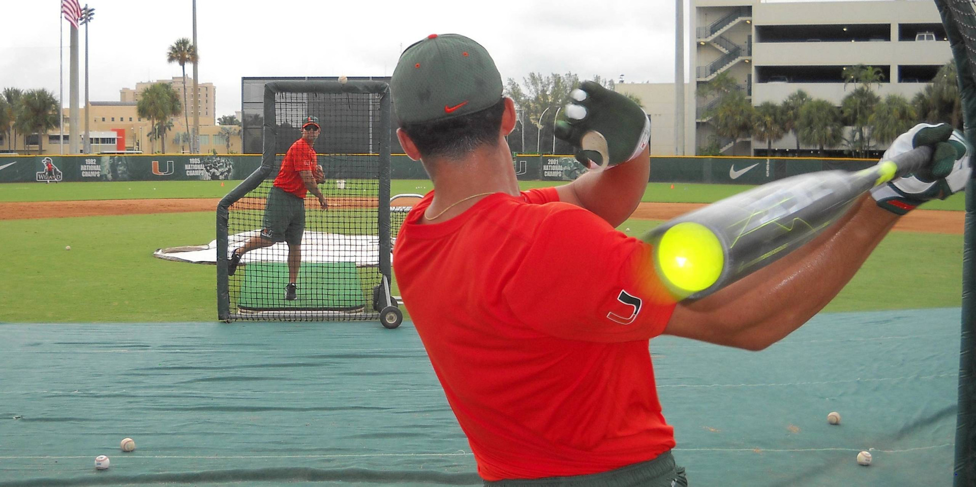
<instances>
[{"instance_id":1,"label":"black mesh netting inside the padded frame of the pitching screen","mask_svg":"<svg viewBox=\"0 0 976 487\"><path fill-rule=\"evenodd\" d=\"M281 242L243 256L235 274L228 277L235 319L353 320L368 318L364 313L376 311L374 295L383 277L381 219L386 218L387 227L389 224L388 212L380 211L381 184L386 184L388 194L389 183L383 181L382 171L388 159L380 156L381 99L381 95L369 93L275 95L276 134L273 140L268 140L269 132L264 136L264 143L275 147L274 167L263 183L230 207L228 249L233 252L256 238L265 219L280 218L280 213L272 212L302 211L301 203L292 205L299 200L290 200L293 196L289 195L271 195L274 203L269 209L266 205L281 161L302 138L308 116L316 117L321 127L314 148L325 174L325 182L318 187L328 208L322 209L311 193L305 195L300 253L297 247ZM282 199L287 204L277 204ZM383 200L384 205L389 204L386 197ZM296 292L290 299L286 286L292 281L290 271L299 254Z\"/></svg>"}]
</instances>

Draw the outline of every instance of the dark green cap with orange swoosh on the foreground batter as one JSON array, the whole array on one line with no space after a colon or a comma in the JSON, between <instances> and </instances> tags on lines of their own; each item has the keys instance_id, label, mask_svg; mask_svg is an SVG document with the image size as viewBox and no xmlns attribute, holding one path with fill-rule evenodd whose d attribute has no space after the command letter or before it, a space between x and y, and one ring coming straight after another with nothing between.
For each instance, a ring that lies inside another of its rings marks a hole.
<instances>
[{"instance_id":1,"label":"dark green cap with orange swoosh on the foreground batter","mask_svg":"<svg viewBox=\"0 0 976 487\"><path fill-rule=\"evenodd\" d=\"M483 110L502 98L502 75L488 51L461 34L430 34L400 55L389 83L401 124Z\"/></svg>"}]
</instances>

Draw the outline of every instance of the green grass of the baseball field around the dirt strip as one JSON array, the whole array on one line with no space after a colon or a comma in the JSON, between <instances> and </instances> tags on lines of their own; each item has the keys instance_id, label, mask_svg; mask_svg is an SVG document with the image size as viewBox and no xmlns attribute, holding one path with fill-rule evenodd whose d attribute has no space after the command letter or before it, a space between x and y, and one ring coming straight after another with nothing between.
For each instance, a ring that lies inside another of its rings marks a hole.
<instances>
[{"instance_id":1,"label":"green grass of the baseball field around the dirt strip","mask_svg":"<svg viewBox=\"0 0 976 487\"><path fill-rule=\"evenodd\" d=\"M553 184L525 182L522 187ZM0 201L219 198L228 186L14 183L0 185ZM674 184L671 189L671 184L652 183L645 201L710 202L747 187ZM425 193L429 188L428 181L395 181L391 192ZM961 209L958 196L937 203ZM639 235L656 224L629 220L620 229ZM212 212L0 221L6 284L0 322L216 321L216 267L152 257L157 248L208 243L214 228ZM826 310L957 306L961 253L960 235L891 233Z\"/></svg>"}]
</instances>

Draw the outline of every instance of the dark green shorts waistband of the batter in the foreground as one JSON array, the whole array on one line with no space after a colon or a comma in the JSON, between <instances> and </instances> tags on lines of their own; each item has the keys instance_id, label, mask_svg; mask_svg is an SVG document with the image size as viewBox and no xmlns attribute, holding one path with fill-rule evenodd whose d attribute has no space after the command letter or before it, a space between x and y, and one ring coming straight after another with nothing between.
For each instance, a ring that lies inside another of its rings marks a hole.
<instances>
[{"instance_id":1,"label":"dark green shorts waistband of the batter in the foreground","mask_svg":"<svg viewBox=\"0 0 976 487\"><path fill-rule=\"evenodd\" d=\"M589 475L485 481L491 487L688 487L684 467L674 465L671 452L654 460Z\"/></svg>"}]
</instances>

